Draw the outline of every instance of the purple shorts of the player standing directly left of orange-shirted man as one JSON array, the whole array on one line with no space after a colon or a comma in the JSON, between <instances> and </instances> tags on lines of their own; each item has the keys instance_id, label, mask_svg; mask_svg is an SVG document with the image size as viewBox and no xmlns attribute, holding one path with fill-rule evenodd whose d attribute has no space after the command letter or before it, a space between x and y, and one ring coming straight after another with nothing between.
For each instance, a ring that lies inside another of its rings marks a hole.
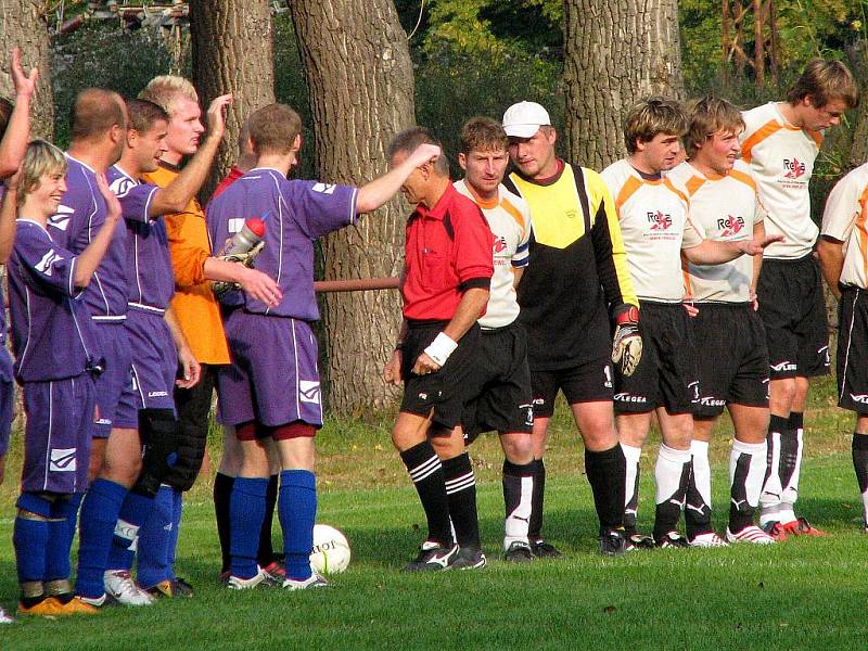
<instances>
[{"instance_id":1,"label":"purple shorts of the player standing directly left of orange-shirted man","mask_svg":"<svg viewBox=\"0 0 868 651\"><path fill-rule=\"evenodd\" d=\"M137 408L175 411L178 353L166 319L162 314L130 308L124 327L132 353Z\"/></svg>"}]
</instances>

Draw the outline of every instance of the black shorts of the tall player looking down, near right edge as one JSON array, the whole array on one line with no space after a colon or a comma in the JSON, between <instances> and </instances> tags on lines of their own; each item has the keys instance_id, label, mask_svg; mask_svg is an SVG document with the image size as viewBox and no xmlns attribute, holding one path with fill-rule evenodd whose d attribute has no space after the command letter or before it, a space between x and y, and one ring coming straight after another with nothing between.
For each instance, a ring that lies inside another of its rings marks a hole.
<instances>
[{"instance_id":1,"label":"black shorts of the tall player looking down, near right edge","mask_svg":"<svg viewBox=\"0 0 868 651\"><path fill-rule=\"evenodd\" d=\"M814 256L764 260L756 296L766 327L771 380L828 373L829 327Z\"/></svg>"}]
</instances>

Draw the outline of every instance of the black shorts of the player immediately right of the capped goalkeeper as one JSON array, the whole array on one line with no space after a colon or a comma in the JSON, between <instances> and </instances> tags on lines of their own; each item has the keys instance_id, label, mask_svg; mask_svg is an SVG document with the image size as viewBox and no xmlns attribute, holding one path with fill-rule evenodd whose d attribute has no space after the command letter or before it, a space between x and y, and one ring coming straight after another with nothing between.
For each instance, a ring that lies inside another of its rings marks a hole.
<instances>
[{"instance_id":1,"label":"black shorts of the player immediately right of the capped goalkeeper","mask_svg":"<svg viewBox=\"0 0 868 651\"><path fill-rule=\"evenodd\" d=\"M692 413L699 400L693 328L680 303L639 306L642 358L629 378L615 367L615 413L646 413L665 407Z\"/></svg>"}]
</instances>

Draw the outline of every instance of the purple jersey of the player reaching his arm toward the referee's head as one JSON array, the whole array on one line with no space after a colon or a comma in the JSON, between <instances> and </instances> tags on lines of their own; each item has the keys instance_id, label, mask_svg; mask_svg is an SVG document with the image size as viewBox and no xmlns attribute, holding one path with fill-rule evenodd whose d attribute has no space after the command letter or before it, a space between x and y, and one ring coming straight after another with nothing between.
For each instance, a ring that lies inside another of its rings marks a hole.
<instances>
[{"instance_id":1,"label":"purple jersey of the player reaching his arm toward the referee's head","mask_svg":"<svg viewBox=\"0 0 868 651\"><path fill-rule=\"evenodd\" d=\"M228 292L221 301L254 314L319 319L314 294L314 240L355 222L357 193L349 186L290 181L268 168L251 169L232 183L206 210L214 253L241 230L247 217L264 219L265 248L254 266L278 282L283 301L269 308L243 292Z\"/></svg>"}]
</instances>

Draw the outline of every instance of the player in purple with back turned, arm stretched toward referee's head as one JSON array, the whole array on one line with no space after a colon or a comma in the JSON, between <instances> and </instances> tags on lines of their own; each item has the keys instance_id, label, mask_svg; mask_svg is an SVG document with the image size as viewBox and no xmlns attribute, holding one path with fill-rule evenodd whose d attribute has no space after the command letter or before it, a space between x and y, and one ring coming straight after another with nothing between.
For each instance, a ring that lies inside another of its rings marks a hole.
<instances>
[{"instance_id":1,"label":"player in purple with back turned, arm stretched toward referee's head","mask_svg":"<svg viewBox=\"0 0 868 651\"><path fill-rule=\"evenodd\" d=\"M234 425L243 464L230 499L231 569L227 586L253 588L265 579L256 552L265 515L268 456L272 437L282 472L278 516L283 528L286 578L296 590L327 585L310 569L317 509L314 435L322 425L314 295L314 241L356 222L360 213L388 201L407 176L439 155L420 146L405 163L363 186L290 181L286 174L302 145L302 120L289 106L270 104L250 117L256 167L215 199L207 210L215 250L243 226L243 217L269 215L257 269L275 278L283 298L270 307L230 292L224 298L226 333L233 365L218 374L219 417ZM240 217L243 216L243 217Z\"/></svg>"}]
</instances>

